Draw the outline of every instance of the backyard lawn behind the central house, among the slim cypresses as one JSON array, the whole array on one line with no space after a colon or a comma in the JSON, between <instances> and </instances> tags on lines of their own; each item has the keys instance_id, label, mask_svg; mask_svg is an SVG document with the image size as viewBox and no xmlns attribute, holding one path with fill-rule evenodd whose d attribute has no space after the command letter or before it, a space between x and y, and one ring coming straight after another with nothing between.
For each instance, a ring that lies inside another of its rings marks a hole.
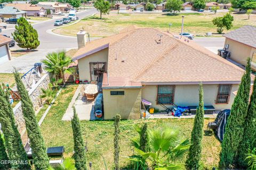
<instances>
[{"instance_id":1,"label":"backyard lawn behind the central house, among the slim cypresses","mask_svg":"<svg viewBox=\"0 0 256 170\"><path fill-rule=\"evenodd\" d=\"M41 131L47 147L65 146L65 157L73 155L73 133L70 121L61 121L63 114L68 107L77 85L65 87L58 96L55 104L45 117L41 125ZM205 128L211 119L205 119ZM133 129L134 124L148 122L149 128L155 128L161 123L177 124L181 128L181 133L186 138L190 138L194 119L158 119L158 120L123 120L121 121L121 167L127 167L129 161L126 156L130 156L133 150L130 146L130 139L137 133ZM87 152L87 163L92 162L92 169L105 169L103 158L105 159L107 169L113 169L113 139L114 126L113 121L81 121L84 142L87 142L89 151ZM220 142L214 137L204 136L202 162L204 167L212 169L218 166Z\"/></svg>"}]
</instances>

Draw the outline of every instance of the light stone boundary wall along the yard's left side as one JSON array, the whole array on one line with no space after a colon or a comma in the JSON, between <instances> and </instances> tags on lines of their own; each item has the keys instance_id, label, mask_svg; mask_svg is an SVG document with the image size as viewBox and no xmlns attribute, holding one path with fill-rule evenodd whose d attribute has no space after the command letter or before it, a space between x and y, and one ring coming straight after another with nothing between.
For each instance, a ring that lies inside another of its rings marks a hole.
<instances>
[{"instance_id":1,"label":"light stone boundary wall along the yard's left side","mask_svg":"<svg viewBox=\"0 0 256 170\"><path fill-rule=\"evenodd\" d=\"M28 95L30 96L30 99L34 105L35 111L40 108L44 100L40 98L42 95L42 88L47 89L50 83L50 77L49 74L43 75L43 77L35 84L35 86L28 91ZM26 126L25 126L25 120L23 118L22 109L21 109L21 101L13 108L14 117L16 120L16 123L18 125L18 130L20 132L22 142L26 143L28 138L26 132Z\"/></svg>"}]
</instances>

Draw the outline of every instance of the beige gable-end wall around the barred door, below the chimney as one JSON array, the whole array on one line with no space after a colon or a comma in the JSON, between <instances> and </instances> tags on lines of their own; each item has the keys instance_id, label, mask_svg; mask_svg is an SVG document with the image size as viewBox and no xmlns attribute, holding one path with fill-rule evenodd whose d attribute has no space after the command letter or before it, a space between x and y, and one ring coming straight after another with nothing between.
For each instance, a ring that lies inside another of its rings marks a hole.
<instances>
[{"instance_id":1,"label":"beige gable-end wall around the barred door, below the chimney","mask_svg":"<svg viewBox=\"0 0 256 170\"><path fill-rule=\"evenodd\" d=\"M86 46L86 44L85 44ZM91 62L106 62L108 63L108 48L100 50L97 53L83 57L78 60L79 79L91 81L90 63Z\"/></svg>"}]
</instances>

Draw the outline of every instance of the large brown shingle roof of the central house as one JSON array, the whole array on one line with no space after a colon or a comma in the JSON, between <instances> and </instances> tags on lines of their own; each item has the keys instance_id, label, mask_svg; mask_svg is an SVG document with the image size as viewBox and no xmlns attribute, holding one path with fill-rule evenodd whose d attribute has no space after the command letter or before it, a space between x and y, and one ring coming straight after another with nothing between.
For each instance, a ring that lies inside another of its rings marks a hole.
<instances>
[{"instance_id":1,"label":"large brown shingle roof of the central house","mask_svg":"<svg viewBox=\"0 0 256 170\"><path fill-rule=\"evenodd\" d=\"M91 41L75 56L108 44L109 86L143 83L239 83L244 70L209 50L153 28ZM159 35L162 43L157 44ZM77 57L74 58L76 60ZM79 61L78 61L79 62ZM117 80L122 82L117 83ZM134 83L132 83L134 82ZM104 85L104 84L103 84Z\"/></svg>"}]
</instances>

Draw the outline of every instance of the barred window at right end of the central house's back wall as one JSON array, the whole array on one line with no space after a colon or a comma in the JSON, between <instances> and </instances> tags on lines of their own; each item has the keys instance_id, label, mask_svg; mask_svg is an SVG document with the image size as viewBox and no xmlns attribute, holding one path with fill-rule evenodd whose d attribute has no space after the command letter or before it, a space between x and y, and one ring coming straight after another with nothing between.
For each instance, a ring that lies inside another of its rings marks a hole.
<instances>
[{"instance_id":1,"label":"barred window at right end of the central house's back wall","mask_svg":"<svg viewBox=\"0 0 256 170\"><path fill-rule=\"evenodd\" d=\"M231 88L232 88L231 84L220 84L219 85L216 104L228 104Z\"/></svg>"}]
</instances>

